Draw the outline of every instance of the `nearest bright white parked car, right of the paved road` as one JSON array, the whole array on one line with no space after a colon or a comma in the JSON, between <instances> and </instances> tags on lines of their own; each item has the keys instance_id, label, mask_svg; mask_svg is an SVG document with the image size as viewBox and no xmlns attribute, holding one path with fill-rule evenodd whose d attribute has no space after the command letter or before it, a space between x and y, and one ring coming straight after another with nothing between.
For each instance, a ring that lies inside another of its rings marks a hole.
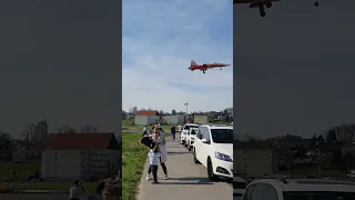
<instances>
[{"instance_id":1,"label":"nearest bright white parked car, right of the paved road","mask_svg":"<svg viewBox=\"0 0 355 200\"><path fill-rule=\"evenodd\" d=\"M233 127L205 124L199 128L193 161L207 169L211 180L233 178Z\"/></svg>"}]
</instances>

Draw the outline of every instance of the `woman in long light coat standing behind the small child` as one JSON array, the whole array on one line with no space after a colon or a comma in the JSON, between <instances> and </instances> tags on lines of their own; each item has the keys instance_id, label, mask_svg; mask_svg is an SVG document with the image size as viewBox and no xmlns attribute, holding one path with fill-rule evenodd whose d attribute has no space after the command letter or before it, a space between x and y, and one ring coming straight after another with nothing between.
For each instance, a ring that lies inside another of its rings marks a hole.
<instances>
[{"instance_id":1,"label":"woman in long light coat standing behind the small child","mask_svg":"<svg viewBox=\"0 0 355 200\"><path fill-rule=\"evenodd\" d=\"M162 169L164 171L164 180L168 179L168 169L165 166L165 162L168 161L168 151L166 151L166 142L165 142L165 137L164 133L156 127L154 129L154 136L152 140L158 143L159 152L160 152L160 164L162 166ZM146 180L150 180L150 174L152 172L152 169L149 168L148 174L146 174Z\"/></svg>"}]
</instances>

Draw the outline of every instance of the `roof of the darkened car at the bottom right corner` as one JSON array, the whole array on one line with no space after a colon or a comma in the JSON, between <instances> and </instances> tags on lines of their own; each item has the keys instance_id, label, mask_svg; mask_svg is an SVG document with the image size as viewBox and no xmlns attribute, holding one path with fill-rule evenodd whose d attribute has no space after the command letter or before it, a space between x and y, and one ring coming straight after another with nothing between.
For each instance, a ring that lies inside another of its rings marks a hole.
<instances>
[{"instance_id":1,"label":"roof of the darkened car at the bottom right corner","mask_svg":"<svg viewBox=\"0 0 355 200\"><path fill-rule=\"evenodd\" d=\"M254 183L268 183L282 191L355 192L355 182L325 179L258 179Z\"/></svg>"}]
</instances>

